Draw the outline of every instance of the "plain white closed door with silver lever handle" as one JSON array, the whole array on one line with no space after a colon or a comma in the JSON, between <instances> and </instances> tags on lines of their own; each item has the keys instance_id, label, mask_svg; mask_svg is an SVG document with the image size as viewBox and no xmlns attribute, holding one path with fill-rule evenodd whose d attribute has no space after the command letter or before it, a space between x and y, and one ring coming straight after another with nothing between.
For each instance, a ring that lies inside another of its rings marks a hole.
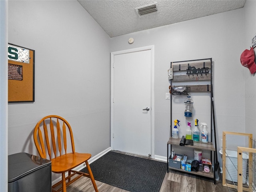
<instances>
[{"instance_id":1,"label":"plain white closed door with silver lever handle","mask_svg":"<svg viewBox=\"0 0 256 192\"><path fill-rule=\"evenodd\" d=\"M112 60L112 149L152 155L152 50Z\"/></svg>"}]
</instances>

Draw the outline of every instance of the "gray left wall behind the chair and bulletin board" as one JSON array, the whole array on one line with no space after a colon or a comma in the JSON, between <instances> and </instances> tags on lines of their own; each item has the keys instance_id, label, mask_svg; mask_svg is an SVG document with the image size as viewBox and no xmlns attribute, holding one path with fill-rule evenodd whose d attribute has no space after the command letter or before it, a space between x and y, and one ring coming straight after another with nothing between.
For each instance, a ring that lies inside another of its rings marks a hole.
<instances>
[{"instance_id":1,"label":"gray left wall behind the chair and bulletin board","mask_svg":"<svg viewBox=\"0 0 256 192\"><path fill-rule=\"evenodd\" d=\"M50 114L77 152L110 147L110 37L77 1L8 3L8 42L35 50L35 102L8 104L8 154L38 154L33 129Z\"/></svg>"}]
</instances>

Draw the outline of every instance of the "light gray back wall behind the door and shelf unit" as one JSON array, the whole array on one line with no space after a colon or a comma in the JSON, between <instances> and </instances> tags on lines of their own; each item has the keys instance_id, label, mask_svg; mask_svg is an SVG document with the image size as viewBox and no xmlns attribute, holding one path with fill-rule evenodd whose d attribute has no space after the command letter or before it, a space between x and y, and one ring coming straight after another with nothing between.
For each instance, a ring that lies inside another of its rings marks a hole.
<instances>
[{"instance_id":1,"label":"light gray back wall behind the door and shelf unit","mask_svg":"<svg viewBox=\"0 0 256 192\"><path fill-rule=\"evenodd\" d=\"M134 38L133 44L128 44L130 37ZM245 100L242 97L245 91L245 69L240 64L240 54L244 50L243 8L111 38L111 52L148 45L155 46L156 155L166 156L169 138L170 100L165 100L165 93L169 91L170 85L167 76L170 62L213 59L217 150L220 150L222 131L245 132ZM198 118L200 122L204 122L204 114L210 115L211 112L210 103L205 106L200 102L204 100L202 95L193 96L196 100L193 105L197 108L197 116L193 119ZM180 105L173 105L173 120L184 116L183 102L184 98ZM194 124L194 120L191 122ZM183 123L180 127L183 135L185 130L186 124ZM235 145L237 144L240 145L236 142ZM221 162L220 156L219 161Z\"/></svg>"}]
</instances>

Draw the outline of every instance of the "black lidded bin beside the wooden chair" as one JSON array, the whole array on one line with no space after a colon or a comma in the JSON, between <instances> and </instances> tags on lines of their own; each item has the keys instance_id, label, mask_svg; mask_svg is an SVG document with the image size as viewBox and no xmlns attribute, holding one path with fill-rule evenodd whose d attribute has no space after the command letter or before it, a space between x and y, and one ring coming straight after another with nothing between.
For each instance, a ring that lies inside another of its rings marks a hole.
<instances>
[{"instance_id":1,"label":"black lidded bin beside the wooden chair","mask_svg":"<svg viewBox=\"0 0 256 192\"><path fill-rule=\"evenodd\" d=\"M51 192L52 163L28 153L8 156L8 192Z\"/></svg>"}]
</instances>

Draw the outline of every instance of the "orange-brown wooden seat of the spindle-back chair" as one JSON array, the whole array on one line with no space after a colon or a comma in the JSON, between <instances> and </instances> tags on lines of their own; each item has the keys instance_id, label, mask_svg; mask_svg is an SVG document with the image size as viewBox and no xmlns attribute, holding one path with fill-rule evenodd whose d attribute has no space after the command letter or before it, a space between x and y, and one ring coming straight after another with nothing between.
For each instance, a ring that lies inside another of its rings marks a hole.
<instances>
[{"instance_id":1,"label":"orange-brown wooden seat of the spindle-back chair","mask_svg":"<svg viewBox=\"0 0 256 192\"><path fill-rule=\"evenodd\" d=\"M91 158L89 153L68 153L52 159L52 172L62 173L72 170L76 166Z\"/></svg>"}]
</instances>

